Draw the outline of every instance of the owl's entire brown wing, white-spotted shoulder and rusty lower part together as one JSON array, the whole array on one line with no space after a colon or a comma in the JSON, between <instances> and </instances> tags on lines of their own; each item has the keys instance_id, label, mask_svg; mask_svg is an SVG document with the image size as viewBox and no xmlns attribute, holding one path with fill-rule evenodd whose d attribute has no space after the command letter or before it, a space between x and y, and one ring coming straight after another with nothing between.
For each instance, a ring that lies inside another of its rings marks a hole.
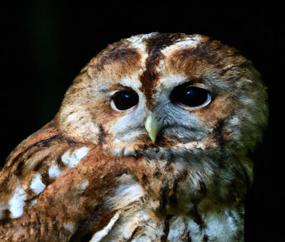
<instances>
[{"instance_id":1,"label":"owl's entire brown wing, white-spotted shoulder and rusty lower part together","mask_svg":"<svg viewBox=\"0 0 285 242\"><path fill-rule=\"evenodd\" d=\"M114 216L144 203L146 191L128 162L106 156L99 145L66 139L53 122L44 126L0 172L0 241L103 238Z\"/></svg>"}]
</instances>

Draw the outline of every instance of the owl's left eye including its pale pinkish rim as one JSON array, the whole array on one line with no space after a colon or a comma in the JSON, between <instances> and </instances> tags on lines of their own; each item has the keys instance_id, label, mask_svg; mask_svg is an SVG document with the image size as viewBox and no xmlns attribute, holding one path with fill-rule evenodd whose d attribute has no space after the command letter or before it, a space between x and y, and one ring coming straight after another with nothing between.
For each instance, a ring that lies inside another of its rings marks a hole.
<instances>
[{"instance_id":1,"label":"owl's left eye including its pale pinkish rim","mask_svg":"<svg viewBox=\"0 0 285 242\"><path fill-rule=\"evenodd\" d=\"M133 90L119 90L112 96L111 107L118 112L129 111L139 103L139 95Z\"/></svg>"}]
</instances>

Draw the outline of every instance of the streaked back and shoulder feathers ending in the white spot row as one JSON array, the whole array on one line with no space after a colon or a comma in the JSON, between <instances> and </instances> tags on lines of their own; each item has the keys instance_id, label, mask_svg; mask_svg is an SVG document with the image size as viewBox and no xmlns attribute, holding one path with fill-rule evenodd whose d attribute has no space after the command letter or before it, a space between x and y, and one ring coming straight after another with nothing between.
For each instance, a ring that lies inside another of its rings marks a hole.
<instances>
[{"instance_id":1,"label":"streaked back and shoulder feathers ending in the white spot row","mask_svg":"<svg viewBox=\"0 0 285 242\"><path fill-rule=\"evenodd\" d=\"M64 138L53 122L22 141L0 171L0 220L18 218L29 210L40 193L91 148Z\"/></svg>"}]
</instances>

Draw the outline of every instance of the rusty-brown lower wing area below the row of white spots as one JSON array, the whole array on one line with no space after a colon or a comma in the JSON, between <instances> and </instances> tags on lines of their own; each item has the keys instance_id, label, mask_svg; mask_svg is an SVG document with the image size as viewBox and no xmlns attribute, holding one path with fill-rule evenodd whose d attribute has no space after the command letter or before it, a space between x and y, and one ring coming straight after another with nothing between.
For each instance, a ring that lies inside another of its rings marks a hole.
<instances>
[{"instance_id":1,"label":"rusty-brown lower wing area below the row of white spots","mask_svg":"<svg viewBox=\"0 0 285 242\"><path fill-rule=\"evenodd\" d=\"M74 169L66 169L50 183L34 206L0 226L1 241L69 241L72 235L82 237L79 230L83 235L100 231L122 209L123 197L133 196L120 194L122 186L136 186L128 173L123 160L111 160L94 147ZM141 190L127 203L141 202L143 195Z\"/></svg>"}]
</instances>

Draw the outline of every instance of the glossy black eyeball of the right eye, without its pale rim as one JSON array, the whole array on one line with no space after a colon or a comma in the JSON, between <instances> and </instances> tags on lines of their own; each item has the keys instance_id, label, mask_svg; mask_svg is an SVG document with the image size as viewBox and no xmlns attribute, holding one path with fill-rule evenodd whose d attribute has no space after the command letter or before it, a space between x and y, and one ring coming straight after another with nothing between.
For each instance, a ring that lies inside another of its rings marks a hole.
<instances>
[{"instance_id":1,"label":"glossy black eyeball of the right eye, without its pale rim","mask_svg":"<svg viewBox=\"0 0 285 242\"><path fill-rule=\"evenodd\" d=\"M182 93L176 94L176 101L189 107L197 107L204 104L208 99L206 90L198 87L187 87Z\"/></svg>"}]
</instances>

